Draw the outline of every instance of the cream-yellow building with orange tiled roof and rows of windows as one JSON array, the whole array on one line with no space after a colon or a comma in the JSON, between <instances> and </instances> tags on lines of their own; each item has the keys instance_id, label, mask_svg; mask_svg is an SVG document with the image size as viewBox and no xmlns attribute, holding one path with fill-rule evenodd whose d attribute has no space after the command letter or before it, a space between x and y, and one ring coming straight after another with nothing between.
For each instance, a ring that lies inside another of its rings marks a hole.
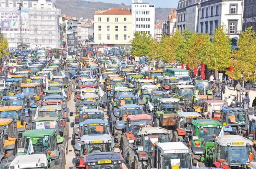
<instances>
[{"instance_id":1,"label":"cream-yellow building with orange tiled roof and rows of windows","mask_svg":"<svg viewBox=\"0 0 256 169\"><path fill-rule=\"evenodd\" d=\"M94 14L94 46L131 46L130 10L110 9Z\"/></svg>"}]
</instances>

